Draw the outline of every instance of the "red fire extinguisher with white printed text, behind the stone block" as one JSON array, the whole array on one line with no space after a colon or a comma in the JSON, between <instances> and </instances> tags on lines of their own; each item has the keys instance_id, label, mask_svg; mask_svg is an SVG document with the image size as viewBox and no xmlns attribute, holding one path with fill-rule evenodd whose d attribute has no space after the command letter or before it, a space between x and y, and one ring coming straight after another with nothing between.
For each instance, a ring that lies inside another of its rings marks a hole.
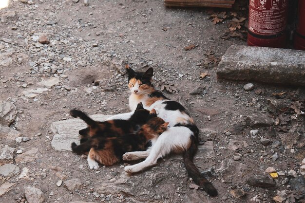
<instances>
[{"instance_id":1,"label":"red fire extinguisher with white printed text, behind the stone block","mask_svg":"<svg viewBox=\"0 0 305 203\"><path fill-rule=\"evenodd\" d=\"M288 0L250 0L248 45L285 48L287 13Z\"/></svg>"}]
</instances>

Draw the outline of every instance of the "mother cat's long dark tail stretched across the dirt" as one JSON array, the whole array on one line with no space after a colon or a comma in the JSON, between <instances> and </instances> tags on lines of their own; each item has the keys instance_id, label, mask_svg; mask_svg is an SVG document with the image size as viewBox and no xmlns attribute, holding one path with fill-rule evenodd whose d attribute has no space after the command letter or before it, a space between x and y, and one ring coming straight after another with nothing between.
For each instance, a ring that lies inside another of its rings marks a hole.
<instances>
[{"instance_id":1,"label":"mother cat's long dark tail stretched across the dirt","mask_svg":"<svg viewBox=\"0 0 305 203\"><path fill-rule=\"evenodd\" d=\"M216 188L199 172L193 163L193 157L196 151L197 142L195 141L195 137L192 135L191 147L183 155L184 165L195 184L202 187L210 196L216 196L218 194Z\"/></svg>"}]
</instances>

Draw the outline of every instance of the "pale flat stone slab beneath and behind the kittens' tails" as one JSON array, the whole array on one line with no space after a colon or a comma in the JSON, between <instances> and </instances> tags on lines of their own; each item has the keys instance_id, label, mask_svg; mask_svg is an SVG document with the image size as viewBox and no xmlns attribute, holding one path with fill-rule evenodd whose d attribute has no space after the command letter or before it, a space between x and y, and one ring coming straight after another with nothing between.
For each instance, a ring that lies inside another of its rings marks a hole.
<instances>
[{"instance_id":1,"label":"pale flat stone slab beneath and behind the kittens' tails","mask_svg":"<svg viewBox=\"0 0 305 203\"><path fill-rule=\"evenodd\" d=\"M96 114L90 116L96 121L105 121L112 115ZM71 143L75 142L79 144L79 134L80 129L87 128L87 124L81 119L74 118L63 121L57 121L51 124L51 129L54 133L51 145L57 151L70 150Z\"/></svg>"}]
</instances>

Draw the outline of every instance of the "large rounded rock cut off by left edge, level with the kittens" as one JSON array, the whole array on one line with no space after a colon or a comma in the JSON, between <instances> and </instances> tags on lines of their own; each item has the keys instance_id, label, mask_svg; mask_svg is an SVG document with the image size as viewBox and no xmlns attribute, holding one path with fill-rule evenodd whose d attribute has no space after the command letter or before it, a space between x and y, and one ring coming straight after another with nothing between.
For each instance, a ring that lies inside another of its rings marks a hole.
<instances>
[{"instance_id":1,"label":"large rounded rock cut off by left edge, level with the kittens","mask_svg":"<svg viewBox=\"0 0 305 203\"><path fill-rule=\"evenodd\" d=\"M0 125L9 126L14 122L17 115L17 108L14 104L0 101Z\"/></svg>"}]
</instances>

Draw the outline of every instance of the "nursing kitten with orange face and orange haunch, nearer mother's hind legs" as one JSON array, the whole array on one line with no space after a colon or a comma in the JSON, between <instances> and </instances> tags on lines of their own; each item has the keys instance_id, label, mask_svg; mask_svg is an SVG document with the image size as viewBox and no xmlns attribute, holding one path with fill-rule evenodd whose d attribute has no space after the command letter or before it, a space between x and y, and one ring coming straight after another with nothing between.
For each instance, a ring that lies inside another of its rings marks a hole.
<instances>
[{"instance_id":1,"label":"nursing kitten with orange face and orange haunch, nearer mother's hind legs","mask_svg":"<svg viewBox=\"0 0 305 203\"><path fill-rule=\"evenodd\" d=\"M156 112L150 112L151 119L144 124L136 133L128 133L118 137L92 136L86 141L90 145L88 154L89 160L96 160L98 163L111 166L122 160L122 155L129 151L143 151L148 147L149 142L154 142L163 133L169 123L156 116ZM72 143L72 150L81 154L88 146ZM83 149L85 148L85 149ZM90 157L90 159L89 159ZM98 168L98 164L90 166Z\"/></svg>"}]
</instances>

